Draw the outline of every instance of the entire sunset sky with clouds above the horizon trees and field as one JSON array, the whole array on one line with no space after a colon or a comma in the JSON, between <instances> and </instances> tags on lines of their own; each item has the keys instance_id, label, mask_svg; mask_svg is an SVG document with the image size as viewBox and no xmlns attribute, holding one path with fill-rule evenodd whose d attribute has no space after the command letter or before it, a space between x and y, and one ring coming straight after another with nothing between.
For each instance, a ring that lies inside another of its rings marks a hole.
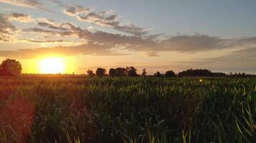
<instances>
[{"instance_id":1,"label":"entire sunset sky with clouds above the horizon trees and field","mask_svg":"<svg viewBox=\"0 0 256 143\"><path fill-rule=\"evenodd\" d=\"M119 66L256 74L255 8L254 0L0 0L0 61L39 74L47 65L63 74Z\"/></svg>"}]
</instances>

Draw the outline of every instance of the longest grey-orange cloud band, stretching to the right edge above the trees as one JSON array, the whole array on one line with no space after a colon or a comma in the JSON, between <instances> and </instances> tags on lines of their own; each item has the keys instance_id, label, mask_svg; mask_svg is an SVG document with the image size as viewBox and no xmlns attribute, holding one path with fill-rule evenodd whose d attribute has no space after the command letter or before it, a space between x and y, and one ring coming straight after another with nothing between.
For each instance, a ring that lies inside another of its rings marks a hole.
<instances>
[{"instance_id":1,"label":"longest grey-orange cloud band, stretching to the right edge above the trees","mask_svg":"<svg viewBox=\"0 0 256 143\"><path fill-rule=\"evenodd\" d=\"M45 24L50 28L50 24ZM105 44L109 47L122 46L130 51L145 51L148 56L157 56L160 51L180 51L180 52L198 52L211 51L214 49L230 49L237 46L250 47L256 44L255 37L242 37L237 39L220 39L209 35L178 35L168 39L158 37L163 34L149 36L127 36L123 34L111 34L104 31L89 31L81 29L70 22L55 24L52 30L32 28L24 31L34 31L40 34L52 34L58 36L75 36L78 39L84 39L91 42ZM57 30L55 30L57 29ZM58 31L63 29L65 31ZM124 46L125 45L125 46ZM118 49L118 47L116 48Z\"/></svg>"}]
</instances>

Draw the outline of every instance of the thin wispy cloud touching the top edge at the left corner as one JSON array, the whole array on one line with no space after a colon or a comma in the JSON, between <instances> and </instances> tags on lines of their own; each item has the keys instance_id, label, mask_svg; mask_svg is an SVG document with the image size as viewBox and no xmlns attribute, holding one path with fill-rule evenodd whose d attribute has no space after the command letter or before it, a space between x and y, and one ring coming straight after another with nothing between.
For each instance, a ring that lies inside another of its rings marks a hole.
<instances>
[{"instance_id":1,"label":"thin wispy cloud touching the top edge at the left corner","mask_svg":"<svg viewBox=\"0 0 256 143\"><path fill-rule=\"evenodd\" d=\"M47 10L42 4L36 0L0 0L2 3L6 4L12 4L15 6L23 6L23 7L28 7L28 8L37 8L37 9L42 9L42 10Z\"/></svg>"}]
</instances>

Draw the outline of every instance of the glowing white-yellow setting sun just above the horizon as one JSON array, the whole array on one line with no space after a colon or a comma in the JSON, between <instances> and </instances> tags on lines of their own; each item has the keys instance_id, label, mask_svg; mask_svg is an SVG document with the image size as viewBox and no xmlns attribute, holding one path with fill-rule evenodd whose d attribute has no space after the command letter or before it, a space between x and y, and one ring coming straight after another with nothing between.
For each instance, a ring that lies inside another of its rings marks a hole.
<instances>
[{"instance_id":1,"label":"glowing white-yellow setting sun just above the horizon","mask_svg":"<svg viewBox=\"0 0 256 143\"><path fill-rule=\"evenodd\" d=\"M45 58L40 60L39 69L41 74L58 74L65 71L65 64L61 58Z\"/></svg>"}]
</instances>

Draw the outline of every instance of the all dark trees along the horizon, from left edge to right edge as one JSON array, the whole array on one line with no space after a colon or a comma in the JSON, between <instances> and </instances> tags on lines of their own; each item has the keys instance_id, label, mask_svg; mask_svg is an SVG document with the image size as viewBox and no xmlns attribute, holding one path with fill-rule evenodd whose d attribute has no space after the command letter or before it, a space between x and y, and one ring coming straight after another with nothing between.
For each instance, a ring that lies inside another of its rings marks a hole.
<instances>
[{"instance_id":1,"label":"all dark trees along the horizon, from left edge to right edge","mask_svg":"<svg viewBox=\"0 0 256 143\"><path fill-rule=\"evenodd\" d=\"M6 59L0 64L0 76L19 76L22 73L22 64L16 59ZM117 67L109 69L109 72L106 72L104 68L96 69L94 73L93 70L89 69L87 71L88 76L93 77L146 77L146 69L142 69L142 74L137 74L137 69L134 66ZM245 74L241 73L232 73L224 74L221 72L211 72L209 69L187 69L181 71L178 74L175 74L173 70L165 71L164 74L161 74L160 71L157 71L154 77L256 77L254 74Z\"/></svg>"}]
</instances>

